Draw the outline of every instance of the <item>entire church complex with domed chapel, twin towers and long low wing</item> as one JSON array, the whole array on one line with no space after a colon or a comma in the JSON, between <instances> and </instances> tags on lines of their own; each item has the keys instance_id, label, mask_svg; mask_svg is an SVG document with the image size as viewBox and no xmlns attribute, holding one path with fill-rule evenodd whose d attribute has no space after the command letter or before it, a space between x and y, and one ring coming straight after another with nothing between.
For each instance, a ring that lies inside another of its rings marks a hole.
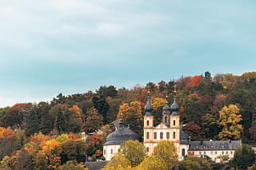
<instances>
[{"instance_id":1,"label":"entire church complex with domed chapel, twin towers and long low wing","mask_svg":"<svg viewBox=\"0 0 256 170\"><path fill-rule=\"evenodd\" d=\"M148 95L144 108L143 144L149 155L154 152L154 147L161 140L170 140L174 142L177 148L178 160L183 160L186 155L209 157L215 162L220 162L218 156L221 155L228 155L230 159L234 157L235 149L242 144L241 140L190 141L190 136L182 130L182 125L180 125L178 109L175 88L173 104L169 106L166 101L162 111L162 122L154 126L153 107L150 104L150 95ZM129 127L124 127L121 117L119 127L106 137L106 143L103 145L103 156L105 156L106 160L110 160L118 152L122 142L126 140L140 140L140 138Z\"/></svg>"}]
</instances>

